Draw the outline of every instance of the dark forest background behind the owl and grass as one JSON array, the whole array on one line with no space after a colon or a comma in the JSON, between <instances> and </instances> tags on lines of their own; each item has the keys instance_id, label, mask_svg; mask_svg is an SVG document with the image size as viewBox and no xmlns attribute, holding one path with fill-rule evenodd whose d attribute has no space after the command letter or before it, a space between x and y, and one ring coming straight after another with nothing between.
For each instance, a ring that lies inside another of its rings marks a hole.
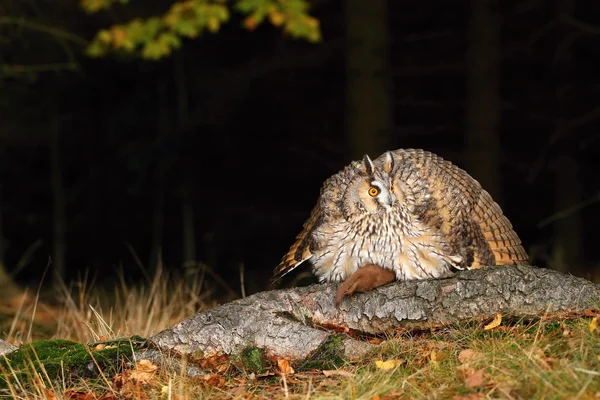
<instances>
[{"instance_id":1,"label":"dark forest background behind the owl and grass","mask_svg":"<svg viewBox=\"0 0 600 400\"><path fill-rule=\"evenodd\" d=\"M532 264L600 281L597 0L309 1L320 40L232 9L169 54L91 56L173 1L124 3L0 1L3 279L160 259L264 290L328 176L423 148L492 193Z\"/></svg>"}]
</instances>

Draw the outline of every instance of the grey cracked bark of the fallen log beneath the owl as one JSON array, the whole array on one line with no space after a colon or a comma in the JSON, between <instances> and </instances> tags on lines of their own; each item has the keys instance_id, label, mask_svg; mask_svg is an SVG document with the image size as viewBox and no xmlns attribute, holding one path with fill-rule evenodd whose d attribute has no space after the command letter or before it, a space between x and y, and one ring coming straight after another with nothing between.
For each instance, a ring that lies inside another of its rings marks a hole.
<instances>
[{"instance_id":1,"label":"grey cracked bark of the fallen log beneath the owl","mask_svg":"<svg viewBox=\"0 0 600 400\"><path fill-rule=\"evenodd\" d=\"M302 360L342 333L341 355L353 359L375 345L361 335L443 327L505 316L580 313L597 307L600 285L530 266L485 267L452 278L395 282L333 304L337 284L258 293L199 312L150 338L182 355L239 355L248 347ZM336 333L337 332L337 333Z\"/></svg>"}]
</instances>

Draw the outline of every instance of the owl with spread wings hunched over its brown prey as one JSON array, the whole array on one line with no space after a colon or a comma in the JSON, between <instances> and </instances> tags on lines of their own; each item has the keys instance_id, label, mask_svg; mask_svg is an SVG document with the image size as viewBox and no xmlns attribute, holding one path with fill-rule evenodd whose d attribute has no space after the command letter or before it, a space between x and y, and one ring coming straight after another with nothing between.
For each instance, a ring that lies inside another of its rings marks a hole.
<instances>
[{"instance_id":1,"label":"owl with spread wings hunched over its brown prey","mask_svg":"<svg viewBox=\"0 0 600 400\"><path fill-rule=\"evenodd\" d=\"M467 172L420 149L365 155L328 178L272 283L303 262L335 296L456 269L526 264L510 221Z\"/></svg>"}]
</instances>

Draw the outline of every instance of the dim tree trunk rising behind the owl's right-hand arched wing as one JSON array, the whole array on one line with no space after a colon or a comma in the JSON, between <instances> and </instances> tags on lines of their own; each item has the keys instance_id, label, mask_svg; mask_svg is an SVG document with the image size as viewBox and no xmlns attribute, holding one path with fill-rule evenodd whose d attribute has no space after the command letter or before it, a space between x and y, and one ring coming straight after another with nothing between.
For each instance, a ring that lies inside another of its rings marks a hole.
<instances>
[{"instance_id":1,"label":"dim tree trunk rising behind the owl's right-hand arched wing","mask_svg":"<svg viewBox=\"0 0 600 400\"><path fill-rule=\"evenodd\" d=\"M495 0L471 0L467 28L465 146L467 170L501 203L500 62L502 16Z\"/></svg>"}]
</instances>

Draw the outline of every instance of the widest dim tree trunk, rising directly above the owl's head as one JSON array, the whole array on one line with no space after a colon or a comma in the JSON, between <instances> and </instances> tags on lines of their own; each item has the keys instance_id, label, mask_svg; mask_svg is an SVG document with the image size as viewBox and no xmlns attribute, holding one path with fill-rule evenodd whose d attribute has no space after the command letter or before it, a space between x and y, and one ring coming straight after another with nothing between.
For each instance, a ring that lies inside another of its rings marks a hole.
<instances>
[{"instance_id":1,"label":"widest dim tree trunk, rising directly above the owl's head","mask_svg":"<svg viewBox=\"0 0 600 400\"><path fill-rule=\"evenodd\" d=\"M349 156L378 157L392 126L387 0L346 0L346 134Z\"/></svg>"}]
</instances>

